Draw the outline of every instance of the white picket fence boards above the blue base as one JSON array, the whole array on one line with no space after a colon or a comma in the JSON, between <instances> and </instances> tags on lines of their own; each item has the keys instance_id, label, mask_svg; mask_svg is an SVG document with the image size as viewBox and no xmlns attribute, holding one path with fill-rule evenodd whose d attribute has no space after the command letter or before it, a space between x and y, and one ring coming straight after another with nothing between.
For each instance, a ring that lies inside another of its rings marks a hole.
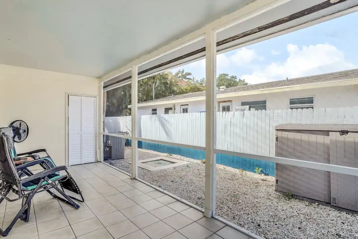
<instances>
[{"instance_id":1,"label":"white picket fence boards above the blue base","mask_svg":"<svg viewBox=\"0 0 358 239\"><path fill-rule=\"evenodd\" d=\"M117 131L130 128L130 117L110 117ZM274 156L279 124L358 124L358 107L256 110L217 113L217 148ZM107 126L106 126L107 128ZM108 131L110 132L110 131ZM166 142L205 146L205 113L142 115L140 136Z\"/></svg>"}]
</instances>

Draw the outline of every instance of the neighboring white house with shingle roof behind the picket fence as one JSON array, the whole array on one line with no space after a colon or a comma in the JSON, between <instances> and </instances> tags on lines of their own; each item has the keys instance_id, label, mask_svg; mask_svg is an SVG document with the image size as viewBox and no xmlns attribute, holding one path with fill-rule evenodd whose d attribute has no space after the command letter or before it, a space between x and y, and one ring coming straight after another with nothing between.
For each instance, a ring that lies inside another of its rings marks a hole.
<instances>
[{"instance_id":1,"label":"neighboring white house with shingle roof behind the picket fence","mask_svg":"<svg viewBox=\"0 0 358 239\"><path fill-rule=\"evenodd\" d=\"M358 69L217 90L218 111L358 106ZM205 111L205 92L138 104L139 115Z\"/></svg>"}]
</instances>

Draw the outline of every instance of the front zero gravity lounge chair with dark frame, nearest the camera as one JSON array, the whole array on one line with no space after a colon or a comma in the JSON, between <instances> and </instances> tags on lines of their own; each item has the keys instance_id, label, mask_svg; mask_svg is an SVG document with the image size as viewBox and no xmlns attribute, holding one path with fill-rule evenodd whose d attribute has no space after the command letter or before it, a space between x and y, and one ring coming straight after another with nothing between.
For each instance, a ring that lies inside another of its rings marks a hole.
<instances>
[{"instance_id":1,"label":"front zero gravity lounge chair with dark frame, nearest the camera","mask_svg":"<svg viewBox=\"0 0 358 239\"><path fill-rule=\"evenodd\" d=\"M15 166L13 157L10 153L10 149L12 149L14 145L11 135L12 132L11 130L9 132L9 128L7 128L7 130L5 129L0 129L0 197L1 201L6 199L9 202L21 199L22 206L13 221L11 221L8 228L5 230L0 229L0 234L2 236L7 236L18 219L24 222L29 221L31 201L34 195L39 192L46 191L54 198L61 200L70 206L73 206L75 209L78 209L79 205L72 200L72 197L68 196L64 192L65 188L74 193L81 194L81 191L79 191L76 182L74 182L71 175L67 172L66 166L44 169L39 173L35 173L23 178L19 176L18 172L21 172L21 170L26 168L28 165L25 163L18 167ZM44 160L40 159L38 162L44 162ZM32 165L33 163L31 166ZM59 174L61 171L65 171L67 174ZM57 186L58 184L61 186L61 188ZM52 192L52 190L57 191L59 195L56 195L54 192ZM7 197L10 191L15 193L15 199L10 199Z\"/></svg>"}]
</instances>

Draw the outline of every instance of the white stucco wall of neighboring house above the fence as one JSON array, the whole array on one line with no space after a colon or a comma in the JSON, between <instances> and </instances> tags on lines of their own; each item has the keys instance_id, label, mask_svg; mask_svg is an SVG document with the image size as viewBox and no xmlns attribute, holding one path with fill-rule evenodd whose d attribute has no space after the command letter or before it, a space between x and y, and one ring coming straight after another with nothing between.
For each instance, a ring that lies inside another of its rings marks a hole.
<instances>
[{"instance_id":1,"label":"white stucco wall of neighboring house above the fence","mask_svg":"<svg viewBox=\"0 0 358 239\"><path fill-rule=\"evenodd\" d=\"M242 101L266 100L267 110L289 109L290 98L295 97L314 97L315 108L358 106L358 85L325 87L320 89L295 90L269 94L236 96L228 98L219 98L218 101L232 100L233 110L241 106ZM188 101L175 104L175 113L179 113L180 105L188 105L188 112L205 111L205 101ZM171 107L173 104L153 105L139 107L138 112L141 115L151 114L151 109L157 108L158 114L164 114L165 107Z\"/></svg>"}]
</instances>

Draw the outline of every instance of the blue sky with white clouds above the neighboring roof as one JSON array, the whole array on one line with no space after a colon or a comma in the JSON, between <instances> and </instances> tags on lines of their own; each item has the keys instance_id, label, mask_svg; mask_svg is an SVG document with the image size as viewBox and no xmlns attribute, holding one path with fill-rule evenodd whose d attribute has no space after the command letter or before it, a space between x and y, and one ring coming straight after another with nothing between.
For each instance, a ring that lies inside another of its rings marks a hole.
<instances>
[{"instance_id":1,"label":"blue sky with white clouds above the neighboring roof","mask_svg":"<svg viewBox=\"0 0 358 239\"><path fill-rule=\"evenodd\" d=\"M358 12L217 55L217 75L255 84L358 68ZM205 59L174 68L205 77Z\"/></svg>"}]
</instances>

